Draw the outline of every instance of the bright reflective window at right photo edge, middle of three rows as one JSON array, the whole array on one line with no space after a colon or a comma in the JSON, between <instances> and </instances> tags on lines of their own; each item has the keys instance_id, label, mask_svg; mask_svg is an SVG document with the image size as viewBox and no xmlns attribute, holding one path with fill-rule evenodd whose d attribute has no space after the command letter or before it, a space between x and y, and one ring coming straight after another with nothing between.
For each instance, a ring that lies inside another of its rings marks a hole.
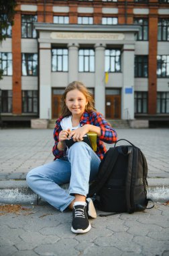
<instances>
[{"instance_id":1,"label":"bright reflective window at right photo edge, middle of three rows","mask_svg":"<svg viewBox=\"0 0 169 256\"><path fill-rule=\"evenodd\" d=\"M157 56L157 76L169 77L169 55Z\"/></svg>"}]
</instances>

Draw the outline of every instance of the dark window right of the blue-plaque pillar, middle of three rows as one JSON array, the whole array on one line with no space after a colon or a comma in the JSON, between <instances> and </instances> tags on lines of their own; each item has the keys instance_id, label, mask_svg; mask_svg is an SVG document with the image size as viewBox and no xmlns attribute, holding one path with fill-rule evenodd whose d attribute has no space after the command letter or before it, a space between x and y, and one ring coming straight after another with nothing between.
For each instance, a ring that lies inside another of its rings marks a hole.
<instances>
[{"instance_id":1,"label":"dark window right of the blue-plaque pillar, middle of three rows","mask_svg":"<svg viewBox=\"0 0 169 256\"><path fill-rule=\"evenodd\" d=\"M148 56L135 55L134 75L135 77L148 77Z\"/></svg>"}]
</instances>

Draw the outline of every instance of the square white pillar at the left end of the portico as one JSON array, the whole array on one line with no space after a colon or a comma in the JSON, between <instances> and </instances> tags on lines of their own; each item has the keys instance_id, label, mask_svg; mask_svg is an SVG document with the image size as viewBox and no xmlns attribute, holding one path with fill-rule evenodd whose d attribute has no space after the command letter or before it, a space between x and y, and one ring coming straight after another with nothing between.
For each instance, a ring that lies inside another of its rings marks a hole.
<instances>
[{"instance_id":1,"label":"square white pillar at the left end of the portico","mask_svg":"<svg viewBox=\"0 0 169 256\"><path fill-rule=\"evenodd\" d=\"M40 43L40 119L51 119L51 48Z\"/></svg>"}]
</instances>

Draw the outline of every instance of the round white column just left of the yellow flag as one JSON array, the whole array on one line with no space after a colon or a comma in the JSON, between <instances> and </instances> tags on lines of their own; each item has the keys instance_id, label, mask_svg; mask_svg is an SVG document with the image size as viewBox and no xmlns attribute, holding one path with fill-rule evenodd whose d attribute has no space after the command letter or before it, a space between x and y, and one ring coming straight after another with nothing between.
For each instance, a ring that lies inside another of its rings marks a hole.
<instances>
[{"instance_id":1,"label":"round white column just left of the yellow flag","mask_svg":"<svg viewBox=\"0 0 169 256\"><path fill-rule=\"evenodd\" d=\"M105 44L95 44L95 108L105 116Z\"/></svg>"}]
</instances>

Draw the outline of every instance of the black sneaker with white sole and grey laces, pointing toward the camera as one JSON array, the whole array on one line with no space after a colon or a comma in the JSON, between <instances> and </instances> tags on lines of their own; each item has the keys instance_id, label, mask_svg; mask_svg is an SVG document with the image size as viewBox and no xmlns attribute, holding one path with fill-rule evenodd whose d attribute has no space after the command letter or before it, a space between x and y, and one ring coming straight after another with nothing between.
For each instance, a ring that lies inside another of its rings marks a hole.
<instances>
[{"instance_id":1,"label":"black sneaker with white sole and grey laces, pointing toward the camera","mask_svg":"<svg viewBox=\"0 0 169 256\"><path fill-rule=\"evenodd\" d=\"M72 232L86 233L91 229L91 224L87 217L87 205L73 206L72 216Z\"/></svg>"}]
</instances>

